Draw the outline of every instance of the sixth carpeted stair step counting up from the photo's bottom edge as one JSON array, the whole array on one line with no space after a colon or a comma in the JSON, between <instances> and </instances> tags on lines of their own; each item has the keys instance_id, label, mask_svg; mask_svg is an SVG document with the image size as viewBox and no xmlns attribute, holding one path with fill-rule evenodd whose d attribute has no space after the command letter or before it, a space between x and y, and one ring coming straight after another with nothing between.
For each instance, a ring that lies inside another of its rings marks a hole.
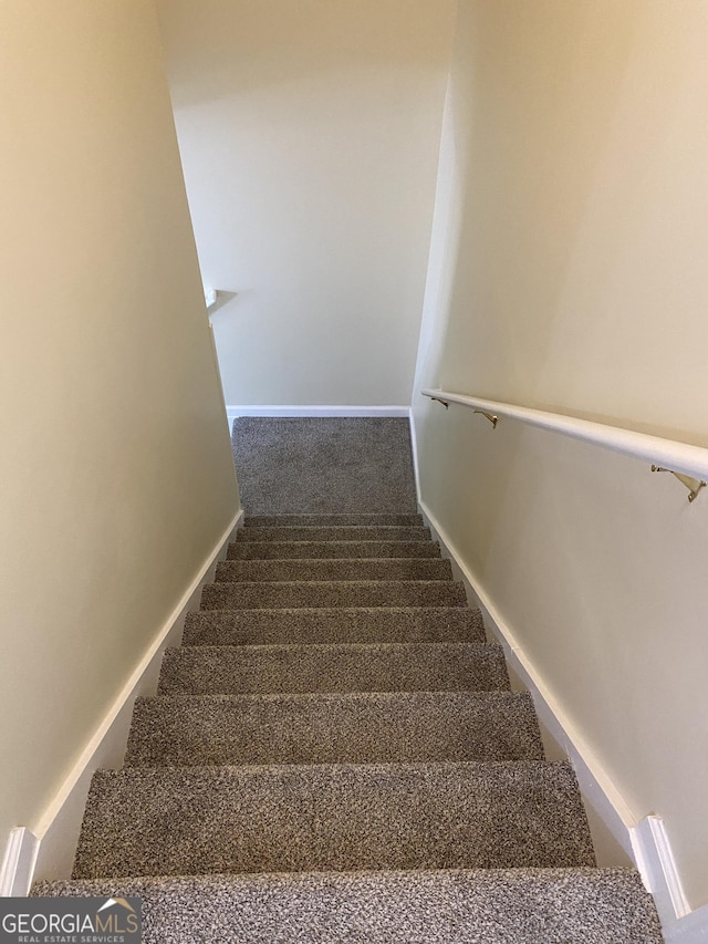
<instances>
[{"instance_id":1,"label":"sixth carpeted stair step counting up from the photo's bottom edge","mask_svg":"<svg viewBox=\"0 0 708 944\"><path fill-rule=\"evenodd\" d=\"M291 580L210 583L202 610L292 606L465 606L461 583L447 580Z\"/></svg>"}]
</instances>

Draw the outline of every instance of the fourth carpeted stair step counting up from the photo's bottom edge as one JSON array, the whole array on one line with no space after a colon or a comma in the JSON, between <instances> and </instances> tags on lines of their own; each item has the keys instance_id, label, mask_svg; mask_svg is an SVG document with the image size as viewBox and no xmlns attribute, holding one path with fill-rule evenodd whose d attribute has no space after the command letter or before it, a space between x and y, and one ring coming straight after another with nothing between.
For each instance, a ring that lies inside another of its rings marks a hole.
<instances>
[{"instance_id":1,"label":"fourth carpeted stair step counting up from the photo's bottom edge","mask_svg":"<svg viewBox=\"0 0 708 944\"><path fill-rule=\"evenodd\" d=\"M165 652L160 695L508 691L503 650L478 643L183 646Z\"/></svg>"}]
</instances>

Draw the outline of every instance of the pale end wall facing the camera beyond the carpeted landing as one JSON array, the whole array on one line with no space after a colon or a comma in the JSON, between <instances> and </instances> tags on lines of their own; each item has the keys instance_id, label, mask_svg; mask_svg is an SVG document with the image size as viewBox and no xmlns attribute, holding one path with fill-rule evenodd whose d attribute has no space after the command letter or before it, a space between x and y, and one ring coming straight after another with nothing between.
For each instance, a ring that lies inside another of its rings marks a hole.
<instances>
[{"instance_id":1,"label":"pale end wall facing the camera beyond the carpeted landing","mask_svg":"<svg viewBox=\"0 0 708 944\"><path fill-rule=\"evenodd\" d=\"M159 0L228 404L409 404L455 0Z\"/></svg>"}]
</instances>

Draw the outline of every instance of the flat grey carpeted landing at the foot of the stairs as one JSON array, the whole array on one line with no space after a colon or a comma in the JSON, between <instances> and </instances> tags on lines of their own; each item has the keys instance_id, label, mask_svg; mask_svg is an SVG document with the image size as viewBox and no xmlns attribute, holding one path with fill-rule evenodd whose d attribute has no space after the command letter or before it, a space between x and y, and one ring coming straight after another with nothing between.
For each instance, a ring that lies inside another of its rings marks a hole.
<instances>
[{"instance_id":1,"label":"flat grey carpeted landing at the foot of the stairs","mask_svg":"<svg viewBox=\"0 0 708 944\"><path fill-rule=\"evenodd\" d=\"M240 417L232 443L248 515L417 510L406 418Z\"/></svg>"}]
</instances>

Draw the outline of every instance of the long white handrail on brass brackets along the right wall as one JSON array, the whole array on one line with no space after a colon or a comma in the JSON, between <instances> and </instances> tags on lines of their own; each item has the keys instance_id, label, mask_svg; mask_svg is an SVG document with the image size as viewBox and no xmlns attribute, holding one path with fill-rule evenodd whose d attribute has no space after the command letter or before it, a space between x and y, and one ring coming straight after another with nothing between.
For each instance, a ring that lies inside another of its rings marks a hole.
<instances>
[{"instance_id":1,"label":"long white handrail on brass brackets along the right wall","mask_svg":"<svg viewBox=\"0 0 708 944\"><path fill-rule=\"evenodd\" d=\"M560 433L583 443L593 443L605 449L612 449L613 453L624 453L637 459L645 459L670 471L695 476L698 479L708 478L708 449L702 446L691 446L689 443L649 436L647 433L636 433L620 426L607 426L604 423L594 423L575 416L546 413L543 409L531 409L512 403L498 403L494 400L481 400L446 390L427 388L421 393L442 403L459 403L461 406L469 406L483 413L508 416L529 426L550 429L552 433Z\"/></svg>"}]
</instances>

